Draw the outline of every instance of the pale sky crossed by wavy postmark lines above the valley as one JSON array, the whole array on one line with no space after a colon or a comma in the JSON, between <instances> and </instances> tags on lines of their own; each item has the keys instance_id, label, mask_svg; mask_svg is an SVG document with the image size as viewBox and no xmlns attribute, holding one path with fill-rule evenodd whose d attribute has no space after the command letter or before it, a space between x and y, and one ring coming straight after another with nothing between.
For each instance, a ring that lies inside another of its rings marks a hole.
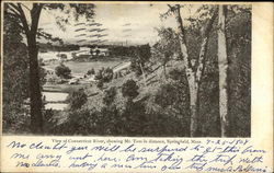
<instances>
[{"instance_id":1,"label":"pale sky crossed by wavy postmark lines above the valley","mask_svg":"<svg viewBox=\"0 0 274 173\"><path fill-rule=\"evenodd\" d=\"M100 28L106 28L101 34L107 35L102 39L107 39L107 43L118 42L127 44L153 44L158 38L156 27L175 27L174 18L160 20L160 14L168 11L164 3L150 5L149 3L99 3L95 4L94 22L101 23ZM41 15L39 27L45 32L58 36L65 43L77 43L80 39L94 41L95 37L87 36L76 37L79 34L93 35L91 32L76 32L80 26L75 26L77 22L70 18L69 24L66 25L66 31L61 31L56 24L56 16L64 16L60 11L44 10ZM89 23L85 19L80 19L79 23ZM91 22L90 22L91 23ZM96 26L98 27L98 26ZM94 26L85 28L92 30ZM96 34L96 32L94 32ZM84 42L83 42L84 43Z\"/></svg>"}]
</instances>

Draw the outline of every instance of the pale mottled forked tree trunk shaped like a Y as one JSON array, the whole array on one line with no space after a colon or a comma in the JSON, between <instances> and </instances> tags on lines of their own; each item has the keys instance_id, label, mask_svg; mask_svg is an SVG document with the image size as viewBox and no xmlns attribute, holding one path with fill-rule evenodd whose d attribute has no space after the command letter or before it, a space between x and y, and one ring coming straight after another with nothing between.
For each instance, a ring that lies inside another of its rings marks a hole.
<instances>
[{"instance_id":1,"label":"pale mottled forked tree trunk shaped like a Y","mask_svg":"<svg viewBox=\"0 0 274 173\"><path fill-rule=\"evenodd\" d=\"M178 35L180 42L180 50L183 57L183 67L185 69L189 90L190 90L190 109L191 109L191 137L198 135L198 93L201 79L205 66L205 57L207 50L207 44L209 34L213 27L213 23L217 16L217 9L214 8L213 16L207 21L205 27L202 31L202 44L199 49L199 56L195 60L195 66L192 64L192 60L189 56L189 50L186 46L186 36L185 28L183 26L183 20L181 16L181 5L169 5L170 12L174 13L178 24ZM195 68L196 67L196 68Z\"/></svg>"}]
</instances>

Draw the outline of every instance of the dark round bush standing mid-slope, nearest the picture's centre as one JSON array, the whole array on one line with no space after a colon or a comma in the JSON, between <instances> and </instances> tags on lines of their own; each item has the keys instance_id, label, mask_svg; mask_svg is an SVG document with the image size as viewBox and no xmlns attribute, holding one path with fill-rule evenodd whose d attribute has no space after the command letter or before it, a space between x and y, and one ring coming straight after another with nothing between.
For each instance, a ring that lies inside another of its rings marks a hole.
<instances>
[{"instance_id":1,"label":"dark round bush standing mid-slope, nearest the picture's centre","mask_svg":"<svg viewBox=\"0 0 274 173\"><path fill-rule=\"evenodd\" d=\"M122 85L122 94L124 97L133 100L139 94L138 89L139 86L136 82L133 79L129 79Z\"/></svg>"}]
</instances>

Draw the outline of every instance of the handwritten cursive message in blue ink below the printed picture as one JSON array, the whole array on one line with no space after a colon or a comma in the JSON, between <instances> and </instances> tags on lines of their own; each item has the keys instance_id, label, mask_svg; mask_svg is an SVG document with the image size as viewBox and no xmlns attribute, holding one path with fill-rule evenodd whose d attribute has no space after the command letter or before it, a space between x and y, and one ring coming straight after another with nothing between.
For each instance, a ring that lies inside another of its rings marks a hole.
<instances>
[{"instance_id":1,"label":"handwritten cursive message in blue ink below the printed picture","mask_svg":"<svg viewBox=\"0 0 274 173\"><path fill-rule=\"evenodd\" d=\"M71 171L111 169L196 172L267 172L265 150L248 139L72 140L9 141L5 148L14 168L54 168ZM152 141L152 140L151 140Z\"/></svg>"}]
</instances>

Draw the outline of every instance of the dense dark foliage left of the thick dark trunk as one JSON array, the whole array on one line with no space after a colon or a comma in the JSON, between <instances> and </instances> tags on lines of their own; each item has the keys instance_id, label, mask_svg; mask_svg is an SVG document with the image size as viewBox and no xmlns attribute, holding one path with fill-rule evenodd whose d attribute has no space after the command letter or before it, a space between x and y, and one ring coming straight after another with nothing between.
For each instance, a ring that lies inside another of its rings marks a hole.
<instances>
[{"instance_id":1,"label":"dense dark foliage left of the thick dark trunk","mask_svg":"<svg viewBox=\"0 0 274 173\"><path fill-rule=\"evenodd\" d=\"M19 19L3 15L3 131L23 130L23 102L28 96L28 74L26 45L21 36ZM26 126L26 125L24 125Z\"/></svg>"}]
</instances>

